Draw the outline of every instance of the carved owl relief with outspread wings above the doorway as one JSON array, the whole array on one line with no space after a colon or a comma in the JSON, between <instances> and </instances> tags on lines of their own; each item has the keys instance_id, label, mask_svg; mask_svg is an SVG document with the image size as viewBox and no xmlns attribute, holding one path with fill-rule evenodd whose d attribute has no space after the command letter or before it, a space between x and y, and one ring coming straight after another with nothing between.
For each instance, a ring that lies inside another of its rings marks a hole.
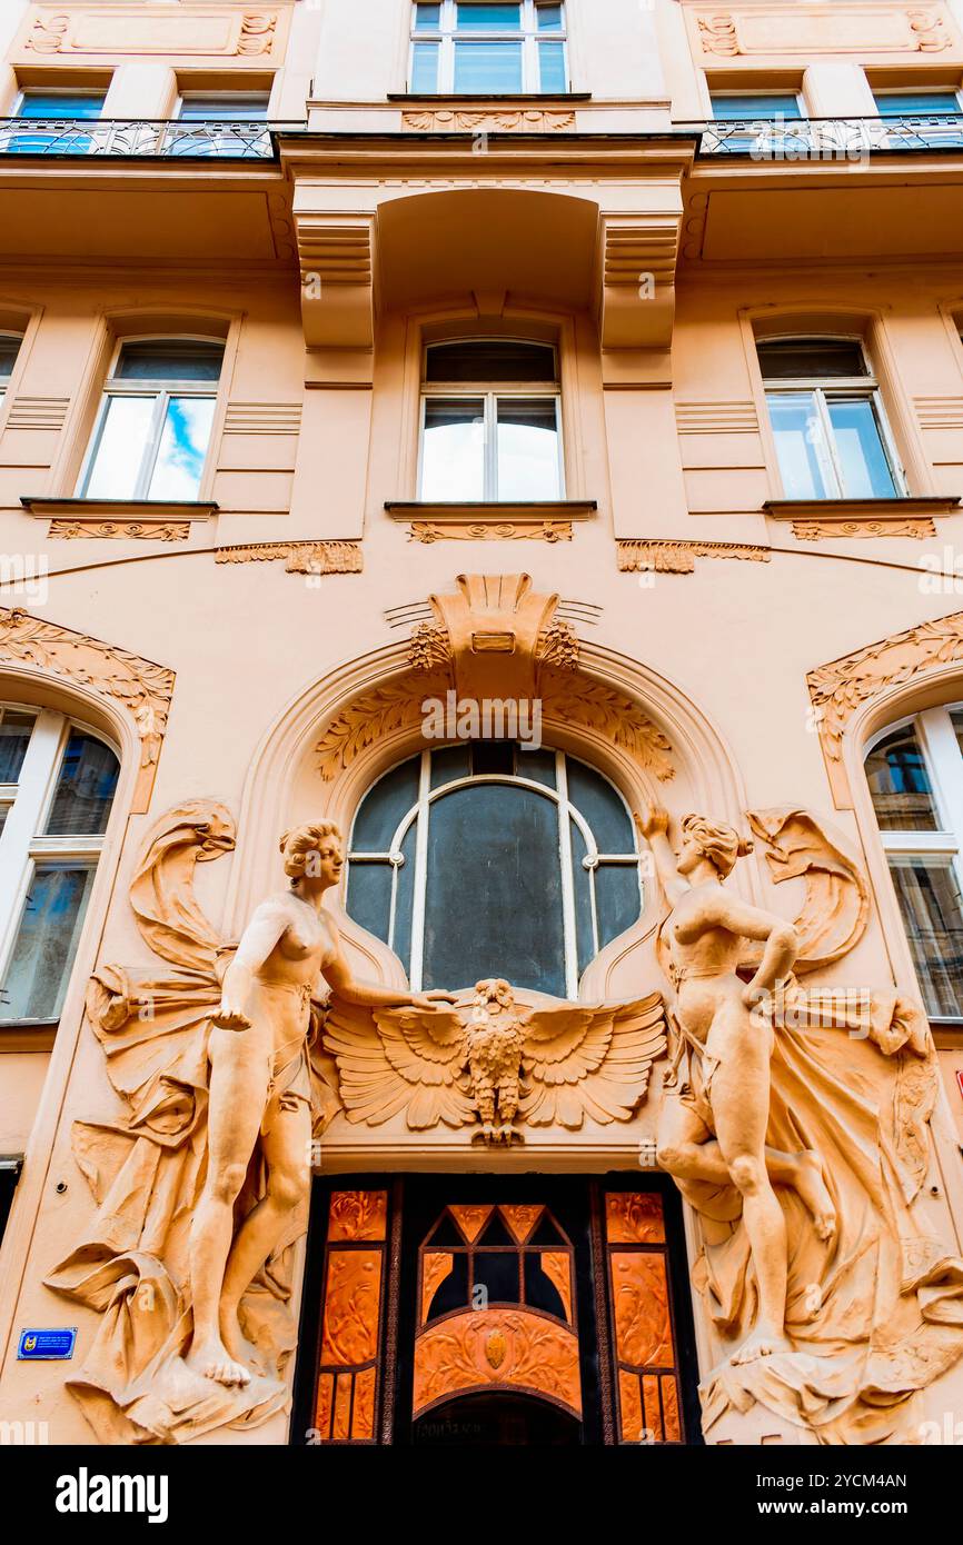
<instances>
[{"instance_id":1,"label":"carved owl relief with outspread wings above the doorway","mask_svg":"<svg viewBox=\"0 0 963 1545\"><path fill-rule=\"evenodd\" d=\"M325 1049L337 1061L349 1122L403 1114L411 1131L478 1125L475 1140L521 1140L518 1125L628 1122L666 1049L663 1001L580 1004L501 978L453 1009L366 1009L331 1000Z\"/></svg>"}]
</instances>

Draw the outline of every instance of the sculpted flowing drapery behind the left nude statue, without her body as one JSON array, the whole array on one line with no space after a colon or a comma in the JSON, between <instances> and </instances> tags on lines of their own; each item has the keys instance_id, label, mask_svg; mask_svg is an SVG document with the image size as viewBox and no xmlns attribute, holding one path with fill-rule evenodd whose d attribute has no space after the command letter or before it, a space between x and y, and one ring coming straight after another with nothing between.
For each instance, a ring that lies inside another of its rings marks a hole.
<instances>
[{"instance_id":1,"label":"sculpted flowing drapery behind the left nude statue, without her body","mask_svg":"<svg viewBox=\"0 0 963 1545\"><path fill-rule=\"evenodd\" d=\"M233 819L223 805L196 802L164 816L147 840L130 901L142 938L176 973L104 966L90 983L90 1020L125 1115L114 1125L74 1123L74 1157L97 1213L46 1285L104 1316L83 1367L66 1384L105 1443L176 1443L224 1424L257 1426L288 1401L280 1374L297 1340L291 1245L306 1227L303 1207L241 1301L258 1355L250 1384L226 1389L181 1357L192 1330L187 1230L207 1157L210 1015L233 950L198 907L193 871L233 842ZM315 1132L339 1108L337 1075L318 1049L322 1017L312 1004ZM238 1221L263 1191L255 1153Z\"/></svg>"}]
</instances>

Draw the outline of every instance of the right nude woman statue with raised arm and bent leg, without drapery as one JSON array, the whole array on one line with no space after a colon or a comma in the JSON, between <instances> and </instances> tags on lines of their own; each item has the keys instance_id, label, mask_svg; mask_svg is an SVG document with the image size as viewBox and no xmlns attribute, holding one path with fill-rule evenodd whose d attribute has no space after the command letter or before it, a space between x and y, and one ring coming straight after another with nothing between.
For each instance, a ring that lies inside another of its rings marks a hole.
<instances>
[{"instance_id":1,"label":"right nude woman statue with raised arm and bent leg, without drapery","mask_svg":"<svg viewBox=\"0 0 963 1545\"><path fill-rule=\"evenodd\" d=\"M686 1182L703 1182L731 1185L740 1194L759 1316L733 1363L750 1363L791 1350L785 1335L787 1228L773 1183L799 1193L821 1239L832 1238L836 1224L819 1156L812 1149L782 1153L765 1142L773 1027L757 1010L788 976L799 941L782 918L723 890L736 861L751 850L731 827L686 816L677 857L665 810L649 808L635 820L671 905L663 935L677 989L675 1015L689 1048L689 1083L663 1106L658 1162L683 1190ZM736 969L745 939L764 946L750 983Z\"/></svg>"}]
</instances>

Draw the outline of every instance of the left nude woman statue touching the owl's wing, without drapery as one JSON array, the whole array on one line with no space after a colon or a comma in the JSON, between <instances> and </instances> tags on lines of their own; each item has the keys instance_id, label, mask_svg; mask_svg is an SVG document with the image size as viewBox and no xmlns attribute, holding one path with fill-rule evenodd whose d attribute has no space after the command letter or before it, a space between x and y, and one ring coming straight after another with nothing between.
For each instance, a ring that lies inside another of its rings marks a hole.
<instances>
[{"instance_id":1,"label":"left nude woman statue touching the owl's wing, without drapery","mask_svg":"<svg viewBox=\"0 0 963 1545\"><path fill-rule=\"evenodd\" d=\"M210 1034L207 1179L190 1233L193 1336L187 1363L219 1384L250 1383L254 1349L240 1323L241 1295L278 1247L311 1179L308 1031L318 973L348 1003L431 1010L450 993L407 993L357 983L322 898L342 876L331 822L281 837L291 890L254 913L224 973ZM233 1208L255 1145L266 1190L233 1236Z\"/></svg>"}]
</instances>

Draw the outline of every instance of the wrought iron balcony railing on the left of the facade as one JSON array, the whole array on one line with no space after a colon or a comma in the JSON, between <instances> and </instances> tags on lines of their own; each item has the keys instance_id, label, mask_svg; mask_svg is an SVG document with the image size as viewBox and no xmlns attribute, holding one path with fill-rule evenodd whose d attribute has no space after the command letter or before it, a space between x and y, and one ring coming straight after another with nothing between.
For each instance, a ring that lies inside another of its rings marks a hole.
<instances>
[{"instance_id":1,"label":"wrought iron balcony railing on the left of the facade","mask_svg":"<svg viewBox=\"0 0 963 1545\"><path fill-rule=\"evenodd\" d=\"M271 161L274 153L263 119L0 117L0 156Z\"/></svg>"}]
</instances>

